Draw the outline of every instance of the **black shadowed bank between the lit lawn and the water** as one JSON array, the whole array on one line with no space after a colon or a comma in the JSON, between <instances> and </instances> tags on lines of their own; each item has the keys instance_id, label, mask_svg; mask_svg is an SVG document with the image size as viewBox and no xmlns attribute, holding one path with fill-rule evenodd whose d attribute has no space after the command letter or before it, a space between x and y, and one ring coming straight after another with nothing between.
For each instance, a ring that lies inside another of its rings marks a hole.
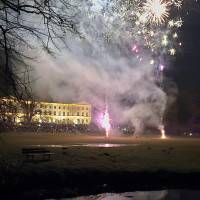
<instances>
[{"instance_id":1,"label":"black shadowed bank between the lit lawn and the water","mask_svg":"<svg viewBox=\"0 0 200 200\"><path fill-rule=\"evenodd\" d=\"M9 177L9 178L8 178ZM102 172L88 169L7 174L1 182L3 199L69 198L105 192L200 189L200 173Z\"/></svg>"}]
</instances>

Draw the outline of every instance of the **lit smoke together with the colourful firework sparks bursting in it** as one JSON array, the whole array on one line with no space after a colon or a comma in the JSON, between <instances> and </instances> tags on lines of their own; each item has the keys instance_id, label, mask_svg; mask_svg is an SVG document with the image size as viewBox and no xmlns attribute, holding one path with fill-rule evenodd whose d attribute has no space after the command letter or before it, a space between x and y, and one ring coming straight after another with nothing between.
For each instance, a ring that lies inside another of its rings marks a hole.
<instances>
[{"instance_id":1,"label":"lit smoke together with the colourful firework sparks bursting in it","mask_svg":"<svg viewBox=\"0 0 200 200\"><path fill-rule=\"evenodd\" d=\"M97 109L108 94L105 129L110 129L109 115L113 124L131 123L138 133L145 126L158 127L167 97L155 71L162 74L169 63L166 55L174 55L177 44L182 45L178 12L158 26L145 21L139 0L81 2L76 17L82 37L69 34L68 49L56 59L43 54L39 64L34 63L35 92L53 101L86 101ZM182 1L170 3L169 8L180 9Z\"/></svg>"}]
</instances>

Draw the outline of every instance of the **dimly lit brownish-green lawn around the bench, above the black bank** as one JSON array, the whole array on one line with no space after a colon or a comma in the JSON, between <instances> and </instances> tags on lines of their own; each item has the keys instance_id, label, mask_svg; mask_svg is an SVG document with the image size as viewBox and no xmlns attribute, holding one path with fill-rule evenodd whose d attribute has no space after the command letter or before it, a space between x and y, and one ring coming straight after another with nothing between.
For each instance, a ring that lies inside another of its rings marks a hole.
<instances>
[{"instance_id":1,"label":"dimly lit brownish-green lawn around the bench, above the black bank","mask_svg":"<svg viewBox=\"0 0 200 200\"><path fill-rule=\"evenodd\" d=\"M128 146L98 148L70 146L88 143L121 143ZM47 145L54 152L52 161L27 163L21 153L29 145ZM65 150L48 145L68 146ZM198 138L134 138L97 137L45 133L10 133L1 136L1 160L22 168L92 169L100 171L200 172L200 139Z\"/></svg>"}]
</instances>

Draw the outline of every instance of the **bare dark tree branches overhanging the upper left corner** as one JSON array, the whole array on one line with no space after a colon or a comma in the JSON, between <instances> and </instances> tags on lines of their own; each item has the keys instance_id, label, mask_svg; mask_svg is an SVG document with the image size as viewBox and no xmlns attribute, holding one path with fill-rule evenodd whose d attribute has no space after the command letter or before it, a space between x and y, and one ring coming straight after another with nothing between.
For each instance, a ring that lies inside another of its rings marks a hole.
<instances>
[{"instance_id":1,"label":"bare dark tree branches overhanging the upper left corner","mask_svg":"<svg viewBox=\"0 0 200 200\"><path fill-rule=\"evenodd\" d=\"M21 70L31 57L26 52L36 46L51 53L57 39L78 34L77 6L72 0L0 0L0 91L22 96ZM20 66L20 67L19 67Z\"/></svg>"}]
</instances>

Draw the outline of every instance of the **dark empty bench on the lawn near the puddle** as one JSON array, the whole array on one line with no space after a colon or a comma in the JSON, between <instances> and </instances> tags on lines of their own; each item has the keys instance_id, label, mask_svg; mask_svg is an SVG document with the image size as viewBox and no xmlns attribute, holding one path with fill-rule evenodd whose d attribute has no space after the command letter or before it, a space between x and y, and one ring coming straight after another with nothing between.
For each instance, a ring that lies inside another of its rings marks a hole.
<instances>
[{"instance_id":1,"label":"dark empty bench on the lawn near the puddle","mask_svg":"<svg viewBox=\"0 0 200 200\"><path fill-rule=\"evenodd\" d=\"M23 148L22 154L27 160L33 161L36 157L40 160L51 160L51 155L54 153L45 148Z\"/></svg>"}]
</instances>

